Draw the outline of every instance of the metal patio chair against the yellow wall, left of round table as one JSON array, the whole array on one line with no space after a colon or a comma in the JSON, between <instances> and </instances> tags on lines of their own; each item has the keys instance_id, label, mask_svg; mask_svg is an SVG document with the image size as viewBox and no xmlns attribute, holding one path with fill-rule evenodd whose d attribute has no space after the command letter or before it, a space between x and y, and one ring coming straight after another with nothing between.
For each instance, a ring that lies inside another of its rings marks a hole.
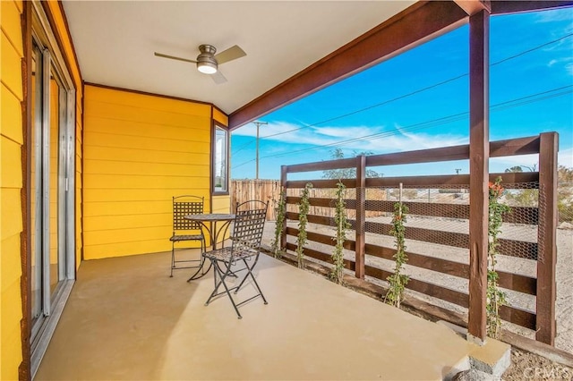
<instances>
[{"instance_id":1,"label":"metal patio chair against the yellow wall, left of round table","mask_svg":"<svg viewBox=\"0 0 573 381\"><path fill-rule=\"evenodd\" d=\"M171 241L171 274L173 277L173 270L180 270L184 268L196 268L196 275L203 268L202 254L206 249L205 237L201 231L201 224L190 221L184 216L199 215L203 213L203 200L204 198L198 196L175 196L173 198L173 235L169 238ZM199 241L201 245L201 255L199 259L175 259L175 251L191 249L191 247L175 248L176 243L186 241ZM177 266L178 263L186 263L192 266ZM192 275L192 276L194 276Z\"/></svg>"}]
</instances>

